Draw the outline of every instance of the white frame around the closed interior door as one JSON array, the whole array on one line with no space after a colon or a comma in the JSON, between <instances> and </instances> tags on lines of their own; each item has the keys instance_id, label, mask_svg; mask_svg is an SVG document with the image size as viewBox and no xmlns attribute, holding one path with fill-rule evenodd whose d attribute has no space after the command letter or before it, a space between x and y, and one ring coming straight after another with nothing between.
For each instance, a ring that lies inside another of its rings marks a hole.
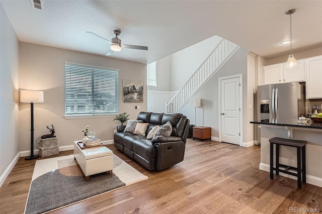
<instances>
[{"instance_id":1,"label":"white frame around the closed interior door","mask_svg":"<svg viewBox=\"0 0 322 214\"><path fill-rule=\"evenodd\" d=\"M239 146L243 142L243 74L236 74L232 76L224 76L224 77L219 77L218 78L218 135L219 135L219 142L221 142L221 80L225 79L232 79L239 77L239 83L240 83L240 88L239 88L239 104L240 104L240 111L239 111L239 132L240 132L240 138L239 138Z\"/></svg>"}]
</instances>

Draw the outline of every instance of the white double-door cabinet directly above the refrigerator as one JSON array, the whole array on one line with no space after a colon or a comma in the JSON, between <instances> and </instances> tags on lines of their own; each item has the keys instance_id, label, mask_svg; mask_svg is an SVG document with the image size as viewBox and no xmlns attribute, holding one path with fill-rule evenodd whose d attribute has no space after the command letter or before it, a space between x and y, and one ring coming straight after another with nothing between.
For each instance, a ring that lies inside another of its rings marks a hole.
<instances>
[{"instance_id":1,"label":"white double-door cabinet directly above the refrigerator","mask_svg":"<svg viewBox=\"0 0 322 214\"><path fill-rule=\"evenodd\" d=\"M295 68L285 68L285 63L264 66L264 85L305 81L304 60L297 60L297 63Z\"/></svg>"}]
</instances>

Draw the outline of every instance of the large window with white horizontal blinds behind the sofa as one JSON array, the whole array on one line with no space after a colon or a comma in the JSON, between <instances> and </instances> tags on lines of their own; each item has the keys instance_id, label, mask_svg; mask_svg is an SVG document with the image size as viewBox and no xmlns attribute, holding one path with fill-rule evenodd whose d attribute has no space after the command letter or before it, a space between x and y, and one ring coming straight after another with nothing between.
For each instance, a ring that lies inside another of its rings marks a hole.
<instances>
[{"instance_id":1,"label":"large window with white horizontal blinds behind the sofa","mask_svg":"<svg viewBox=\"0 0 322 214\"><path fill-rule=\"evenodd\" d=\"M117 69L65 62L65 116L116 115Z\"/></svg>"}]
</instances>

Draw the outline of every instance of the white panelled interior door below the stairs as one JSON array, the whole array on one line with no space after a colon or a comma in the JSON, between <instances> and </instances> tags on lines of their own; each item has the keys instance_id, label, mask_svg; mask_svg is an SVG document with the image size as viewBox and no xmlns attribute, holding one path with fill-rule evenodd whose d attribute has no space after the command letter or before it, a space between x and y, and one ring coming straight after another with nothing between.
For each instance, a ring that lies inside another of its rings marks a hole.
<instances>
[{"instance_id":1,"label":"white panelled interior door below the stairs","mask_svg":"<svg viewBox=\"0 0 322 214\"><path fill-rule=\"evenodd\" d=\"M240 145L240 78L221 79L221 142Z\"/></svg>"}]
</instances>

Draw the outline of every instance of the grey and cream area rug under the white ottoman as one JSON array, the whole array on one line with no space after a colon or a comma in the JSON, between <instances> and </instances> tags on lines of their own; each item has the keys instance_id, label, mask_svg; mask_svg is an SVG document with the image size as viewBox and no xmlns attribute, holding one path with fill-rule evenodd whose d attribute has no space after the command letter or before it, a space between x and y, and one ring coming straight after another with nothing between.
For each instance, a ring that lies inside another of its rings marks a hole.
<instances>
[{"instance_id":1,"label":"grey and cream area rug under the white ottoman","mask_svg":"<svg viewBox=\"0 0 322 214\"><path fill-rule=\"evenodd\" d=\"M109 172L85 175L74 155L37 160L25 213L43 213L147 179L147 176L113 154Z\"/></svg>"}]
</instances>

